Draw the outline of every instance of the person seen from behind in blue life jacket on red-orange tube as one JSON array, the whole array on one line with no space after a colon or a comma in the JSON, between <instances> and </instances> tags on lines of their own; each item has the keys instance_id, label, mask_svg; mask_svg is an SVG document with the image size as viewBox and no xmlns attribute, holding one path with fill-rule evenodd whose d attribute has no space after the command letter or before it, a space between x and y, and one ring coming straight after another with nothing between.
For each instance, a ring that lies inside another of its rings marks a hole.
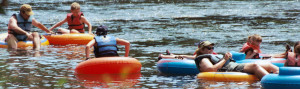
<instances>
[{"instance_id":1,"label":"person seen from behind in blue life jacket on red-orange tube","mask_svg":"<svg viewBox=\"0 0 300 89\"><path fill-rule=\"evenodd\" d=\"M106 26L99 26L96 29L96 35L91 40L85 49L86 60L90 58L90 48L94 46L95 57L113 57L119 56L117 53L117 45L125 45L125 57L128 57L130 51L130 42L124 39L119 39L111 35L107 35L108 28Z\"/></svg>"}]
</instances>

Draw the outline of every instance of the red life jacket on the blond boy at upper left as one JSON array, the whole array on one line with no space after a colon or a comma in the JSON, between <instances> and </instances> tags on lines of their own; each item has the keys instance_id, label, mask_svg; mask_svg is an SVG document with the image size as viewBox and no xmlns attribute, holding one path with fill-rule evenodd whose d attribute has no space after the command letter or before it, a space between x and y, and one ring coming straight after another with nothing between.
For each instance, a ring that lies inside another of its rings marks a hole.
<instances>
[{"instance_id":1,"label":"red life jacket on the blond boy at upper left","mask_svg":"<svg viewBox=\"0 0 300 89\"><path fill-rule=\"evenodd\" d=\"M80 22L81 16L84 16L82 12L80 12L77 17L74 17L72 13L67 14L69 29L76 29L84 33L84 24Z\"/></svg>"}]
</instances>

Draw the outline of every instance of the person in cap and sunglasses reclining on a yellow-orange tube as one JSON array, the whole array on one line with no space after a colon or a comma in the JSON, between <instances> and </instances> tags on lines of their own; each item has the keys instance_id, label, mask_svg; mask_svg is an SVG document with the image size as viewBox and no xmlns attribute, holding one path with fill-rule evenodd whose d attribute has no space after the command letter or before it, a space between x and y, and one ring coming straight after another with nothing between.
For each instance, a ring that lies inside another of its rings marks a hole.
<instances>
[{"instance_id":1,"label":"person in cap and sunglasses reclining on a yellow-orange tube","mask_svg":"<svg viewBox=\"0 0 300 89\"><path fill-rule=\"evenodd\" d=\"M196 50L195 63L200 72L246 72L253 73L259 79L270 72L278 73L279 68L271 63L244 63L239 64L232 61L232 54L227 52L223 55L214 55L214 44L206 41L199 44Z\"/></svg>"}]
</instances>

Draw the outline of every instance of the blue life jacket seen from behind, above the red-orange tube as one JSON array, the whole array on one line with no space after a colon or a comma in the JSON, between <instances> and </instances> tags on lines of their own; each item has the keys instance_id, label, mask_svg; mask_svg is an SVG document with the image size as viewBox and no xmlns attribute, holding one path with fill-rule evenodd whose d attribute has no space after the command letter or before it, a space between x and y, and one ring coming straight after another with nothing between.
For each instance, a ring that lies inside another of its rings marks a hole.
<instances>
[{"instance_id":1,"label":"blue life jacket seen from behind, above the red-orange tube","mask_svg":"<svg viewBox=\"0 0 300 89\"><path fill-rule=\"evenodd\" d=\"M117 51L117 41L114 36L95 36L97 45L94 46L96 57L119 56Z\"/></svg>"}]
</instances>

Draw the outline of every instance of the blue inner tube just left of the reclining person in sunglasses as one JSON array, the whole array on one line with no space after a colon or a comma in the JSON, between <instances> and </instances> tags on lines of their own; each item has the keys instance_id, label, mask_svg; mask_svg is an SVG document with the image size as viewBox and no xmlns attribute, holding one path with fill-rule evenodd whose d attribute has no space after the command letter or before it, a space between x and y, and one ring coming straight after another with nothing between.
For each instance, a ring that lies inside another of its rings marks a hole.
<instances>
[{"instance_id":1,"label":"blue inner tube just left of the reclining person in sunglasses","mask_svg":"<svg viewBox=\"0 0 300 89\"><path fill-rule=\"evenodd\" d=\"M161 59L157 62L157 69L166 75L196 75L199 73L193 59Z\"/></svg>"}]
</instances>

